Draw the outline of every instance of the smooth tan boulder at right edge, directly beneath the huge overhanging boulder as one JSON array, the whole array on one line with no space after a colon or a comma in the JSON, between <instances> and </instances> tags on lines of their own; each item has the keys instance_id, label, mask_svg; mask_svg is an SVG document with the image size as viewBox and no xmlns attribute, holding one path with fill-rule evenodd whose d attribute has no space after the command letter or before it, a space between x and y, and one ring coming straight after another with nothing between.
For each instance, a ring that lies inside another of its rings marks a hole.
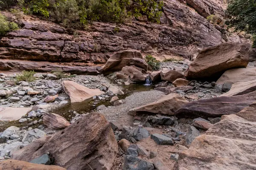
<instances>
[{"instance_id":1,"label":"smooth tan boulder at right edge, directly beneath the huge overhanging boulder","mask_svg":"<svg viewBox=\"0 0 256 170\"><path fill-rule=\"evenodd\" d=\"M224 72L215 85L224 83L248 82L256 79L256 68L234 68Z\"/></svg>"}]
</instances>

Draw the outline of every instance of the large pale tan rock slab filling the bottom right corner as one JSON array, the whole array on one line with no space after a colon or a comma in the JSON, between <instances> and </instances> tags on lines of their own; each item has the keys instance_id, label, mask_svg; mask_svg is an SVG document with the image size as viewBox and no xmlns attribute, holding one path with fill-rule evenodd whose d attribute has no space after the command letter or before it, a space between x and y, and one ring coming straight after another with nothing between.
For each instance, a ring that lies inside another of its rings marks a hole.
<instances>
[{"instance_id":1,"label":"large pale tan rock slab filling the bottom right corner","mask_svg":"<svg viewBox=\"0 0 256 170\"><path fill-rule=\"evenodd\" d=\"M175 170L255 170L255 152L256 122L224 115L179 154Z\"/></svg>"}]
</instances>

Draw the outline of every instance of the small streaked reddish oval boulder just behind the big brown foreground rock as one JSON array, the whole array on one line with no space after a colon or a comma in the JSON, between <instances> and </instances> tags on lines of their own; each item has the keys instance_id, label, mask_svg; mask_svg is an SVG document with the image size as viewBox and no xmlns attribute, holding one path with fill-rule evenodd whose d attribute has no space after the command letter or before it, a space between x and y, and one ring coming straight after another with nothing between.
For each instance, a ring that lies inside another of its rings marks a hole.
<instances>
[{"instance_id":1,"label":"small streaked reddish oval boulder just behind the big brown foreground rock","mask_svg":"<svg viewBox=\"0 0 256 170\"><path fill-rule=\"evenodd\" d=\"M64 117L55 113L44 113L43 121L51 129L65 129L70 125Z\"/></svg>"}]
</instances>

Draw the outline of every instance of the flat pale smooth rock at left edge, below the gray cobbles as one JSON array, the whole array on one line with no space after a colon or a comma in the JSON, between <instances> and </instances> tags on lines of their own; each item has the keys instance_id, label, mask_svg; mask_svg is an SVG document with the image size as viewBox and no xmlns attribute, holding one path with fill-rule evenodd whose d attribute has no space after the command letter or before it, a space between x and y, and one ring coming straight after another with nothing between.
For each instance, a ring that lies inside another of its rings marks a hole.
<instances>
[{"instance_id":1,"label":"flat pale smooth rock at left edge, below the gray cobbles","mask_svg":"<svg viewBox=\"0 0 256 170\"><path fill-rule=\"evenodd\" d=\"M0 108L0 120L18 120L22 116L25 116L29 111L31 111L31 108Z\"/></svg>"}]
</instances>

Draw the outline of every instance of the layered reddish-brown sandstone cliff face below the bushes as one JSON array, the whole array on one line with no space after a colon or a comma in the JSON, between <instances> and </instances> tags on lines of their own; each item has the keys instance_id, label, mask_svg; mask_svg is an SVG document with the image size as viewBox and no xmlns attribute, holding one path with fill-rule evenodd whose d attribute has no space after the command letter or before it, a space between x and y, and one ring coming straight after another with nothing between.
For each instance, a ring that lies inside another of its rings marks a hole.
<instances>
[{"instance_id":1,"label":"layered reddish-brown sandstone cliff face below the bushes","mask_svg":"<svg viewBox=\"0 0 256 170\"><path fill-rule=\"evenodd\" d=\"M222 2L197 1L196 6L190 1L186 3L198 13L177 0L165 0L161 24L133 20L122 25L117 33L112 23L95 22L89 26L90 31L81 31L74 37L54 23L35 18L17 21L21 29L0 40L0 59L105 63L112 54L127 49L158 58L173 55L191 58L197 54L198 47L218 45L222 40L221 32L203 14L223 14ZM12 14L5 14L11 18Z\"/></svg>"}]
</instances>

